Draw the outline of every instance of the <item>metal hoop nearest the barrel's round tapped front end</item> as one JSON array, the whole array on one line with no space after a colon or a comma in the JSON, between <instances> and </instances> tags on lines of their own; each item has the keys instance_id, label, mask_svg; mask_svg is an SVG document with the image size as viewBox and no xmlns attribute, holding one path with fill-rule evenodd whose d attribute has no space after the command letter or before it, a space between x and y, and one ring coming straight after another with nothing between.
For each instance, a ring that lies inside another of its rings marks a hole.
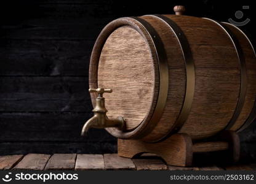
<instances>
[{"instance_id":1,"label":"metal hoop nearest the barrel's round tapped front end","mask_svg":"<svg viewBox=\"0 0 256 184\"><path fill-rule=\"evenodd\" d=\"M166 106L168 87L169 87L169 67L166 56L166 50L164 49L164 44L162 43L161 37L158 35L153 26L147 21L139 17L130 17L137 20L150 35L151 40L153 40L156 55L158 57L158 69L159 69L159 91L158 99L156 102L156 107L154 108L153 115L148 122L147 126L142 129L140 134L136 139L141 139L153 131L154 127L158 124L164 112L164 107Z\"/></svg>"}]
</instances>

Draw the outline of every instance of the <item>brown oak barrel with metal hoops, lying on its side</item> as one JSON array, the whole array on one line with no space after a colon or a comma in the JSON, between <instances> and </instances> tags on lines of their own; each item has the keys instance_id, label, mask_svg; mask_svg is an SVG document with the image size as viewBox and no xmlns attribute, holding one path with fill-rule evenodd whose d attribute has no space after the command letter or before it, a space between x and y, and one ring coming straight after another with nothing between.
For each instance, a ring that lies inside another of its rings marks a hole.
<instances>
[{"instance_id":1,"label":"brown oak barrel with metal hoops, lying on its side","mask_svg":"<svg viewBox=\"0 0 256 184\"><path fill-rule=\"evenodd\" d=\"M186 15L111 21L90 59L90 88L113 89L107 115L126 120L124 131L106 128L121 139L241 131L255 118L255 79L254 48L240 29Z\"/></svg>"}]
</instances>

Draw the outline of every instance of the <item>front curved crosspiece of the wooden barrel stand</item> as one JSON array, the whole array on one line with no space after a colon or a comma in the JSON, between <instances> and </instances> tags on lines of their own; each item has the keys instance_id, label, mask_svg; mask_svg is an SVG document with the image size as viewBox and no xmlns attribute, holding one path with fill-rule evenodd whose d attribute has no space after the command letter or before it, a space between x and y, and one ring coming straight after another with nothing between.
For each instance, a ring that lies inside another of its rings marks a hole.
<instances>
[{"instance_id":1,"label":"front curved crosspiece of the wooden barrel stand","mask_svg":"<svg viewBox=\"0 0 256 184\"><path fill-rule=\"evenodd\" d=\"M118 139L118 155L133 158L142 153L154 153L167 164L173 166L191 166L193 159L192 141L186 134L174 134L155 144L142 140Z\"/></svg>"}]
</instances>

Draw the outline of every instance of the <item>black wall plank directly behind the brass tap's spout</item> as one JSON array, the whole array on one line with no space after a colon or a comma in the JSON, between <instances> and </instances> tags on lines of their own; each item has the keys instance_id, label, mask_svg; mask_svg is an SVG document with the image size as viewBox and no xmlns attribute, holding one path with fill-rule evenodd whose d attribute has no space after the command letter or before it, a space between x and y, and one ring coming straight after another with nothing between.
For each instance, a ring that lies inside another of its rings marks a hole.
<instances>
[{"instance_id":1,"label":"black wall plank directly behind the brass tap's spout","mask_svg":"<svg viewBox=\"0 0 256 184\"><path fill-rule=\"evenodd\" d=\"M0 134L0 141L7 142L18 139L19 141L51 142L84 142L85 140L115 142L114 137L104 129L90 129L86 139L81 137L82 126L90 117L92 117L92 113L0 113L1 127L4 129ZM56 151L54 152L56 153ZM26 153L29 152L26 151Z\"/></svg>"}]
</instances>

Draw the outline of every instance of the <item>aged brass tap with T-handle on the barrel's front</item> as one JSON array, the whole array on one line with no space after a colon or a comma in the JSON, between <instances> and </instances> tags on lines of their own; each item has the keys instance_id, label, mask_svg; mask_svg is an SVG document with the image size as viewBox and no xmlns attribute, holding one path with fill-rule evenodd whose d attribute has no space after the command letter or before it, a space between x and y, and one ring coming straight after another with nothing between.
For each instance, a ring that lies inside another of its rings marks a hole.
<instances>
[{"instance_id":1,"label":"aged brass tap with T-handle on the barrel's front","mask_svg":"<svg viewBox=\"0 0 256 184\"><path fill-rule=\"evenodd\" d=\"M105 98L103 98L103 93L112 93L111 89L97 88L97 89L89 89L90 93L98 93L98 97L96 98L95 108L92 110L94 112L94 116L90 118L84 126L82 127L81 136L89 130L89 128L108 128L108 127L116 127L119 129L124 129L125 121L122 117L117 118L108 118L106 116L105 108Z\"/></svg>"}]
</instances>

